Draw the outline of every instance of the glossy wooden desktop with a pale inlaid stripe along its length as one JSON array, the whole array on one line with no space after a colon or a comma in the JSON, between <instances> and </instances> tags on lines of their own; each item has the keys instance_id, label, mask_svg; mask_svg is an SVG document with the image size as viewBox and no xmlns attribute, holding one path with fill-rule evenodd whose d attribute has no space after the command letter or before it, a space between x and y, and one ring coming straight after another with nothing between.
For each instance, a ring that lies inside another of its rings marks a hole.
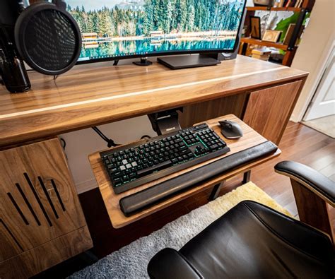
<instances>
[{"instance_id":1,"label":"glossy wooden desktop with a pale inlaid stripe along its length","mask_svg":"<svg viewBox=\"0 0 335 279\"><path fill-rule=\"evenodd\" d=\"M0 146L54 136L164 109L213 100L306 72L238 56L218 66L172 71L154 63L75 66L59 76L30 72L32 90L9 94L0 85Z\"/></svg>"}]
</instances>

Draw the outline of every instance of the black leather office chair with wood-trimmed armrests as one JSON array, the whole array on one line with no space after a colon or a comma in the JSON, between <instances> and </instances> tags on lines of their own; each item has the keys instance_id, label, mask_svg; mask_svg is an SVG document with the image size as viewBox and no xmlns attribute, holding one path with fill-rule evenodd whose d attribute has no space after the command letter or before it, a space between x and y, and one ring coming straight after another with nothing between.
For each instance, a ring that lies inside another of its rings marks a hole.
<instances>
[{"instance_id":1,"label":"black leather office chair with wood-trimmed armrests","mask_svg":"<svg viewBox=\"0 0 335 279\"><path fill-rule=\"evenodd\" d=\"M327 177L289 161L278 163L275 170L291 178L293 189L302 186L317 195L317 203L334 206L335 184ZM310 193L294 193L302 205L300 213ZM242 201L180 251L159 251L148 264L148 274L182 279L334 278L334 247L320 230L254 201Z\"/></svg>"}]
</instances>

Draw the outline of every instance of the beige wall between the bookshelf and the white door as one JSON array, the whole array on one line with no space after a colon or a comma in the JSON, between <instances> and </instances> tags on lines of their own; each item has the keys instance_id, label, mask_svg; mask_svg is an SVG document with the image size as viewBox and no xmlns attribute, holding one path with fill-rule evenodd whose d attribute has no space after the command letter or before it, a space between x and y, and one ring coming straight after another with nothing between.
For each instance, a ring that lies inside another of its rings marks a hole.
<instances>
[{"instance_id":1,"label":"beige wall between the bookshelf and the white door","mask_svg":"<svg viewBox=\"0 0 335 279\"><path fill-rule=\"evenodd\" d=\"M310 23L293 59L293 68L310 72L291 116L293 121L301 121L326 66L328 53L334 41L334 2L315 1Z\"/></svg>"}]
</instances>

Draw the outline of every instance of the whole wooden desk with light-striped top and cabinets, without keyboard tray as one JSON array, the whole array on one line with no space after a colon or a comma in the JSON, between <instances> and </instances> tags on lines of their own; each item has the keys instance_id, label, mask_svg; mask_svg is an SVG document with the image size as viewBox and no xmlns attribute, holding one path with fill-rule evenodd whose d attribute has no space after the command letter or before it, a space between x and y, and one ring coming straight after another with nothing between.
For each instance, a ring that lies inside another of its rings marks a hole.
<instances>
[{"instance_id":1,"label":"whole wooden desk with light-striped top and cabinets, without keyboard tray","mask_svg":"<svg viewBox=\"0 0 335 279\"><path fill-rule=\"evenodd\" d=\"M182 126L233 113L279 143L307 73L238 56L196 69L100 63L76 66L55 81L29 77L28 93L9 94L0 85L1 278L34 275L92 247L55 136L184 107ZM74 247L73 239L83 245Z\"/></svg>"}]
</instances>

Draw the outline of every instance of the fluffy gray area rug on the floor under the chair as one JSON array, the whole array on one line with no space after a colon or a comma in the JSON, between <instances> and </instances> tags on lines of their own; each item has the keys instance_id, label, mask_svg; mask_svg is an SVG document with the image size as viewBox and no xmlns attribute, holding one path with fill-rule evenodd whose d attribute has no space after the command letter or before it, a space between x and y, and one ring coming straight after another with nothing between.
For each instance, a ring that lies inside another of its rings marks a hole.
<instances>
[{"instance_id":1,"label":"fluffy gray area rug on the floor under the chair","mask_svg":"<svg viewBox=\"0 0 335 279\"><path fill-rule=\"evenodd\" d=\"M69 278L148 278L146 267L150 259L161 249L180 249L211 222L233 208L240 201L263 203L286 215L288 211L276 203L252 182L216 198L200 208L168 223L151 235L141 237L118 251L100 259ZM117 240L117 239L115 239Z\"/></svg>"}]
</instances>

